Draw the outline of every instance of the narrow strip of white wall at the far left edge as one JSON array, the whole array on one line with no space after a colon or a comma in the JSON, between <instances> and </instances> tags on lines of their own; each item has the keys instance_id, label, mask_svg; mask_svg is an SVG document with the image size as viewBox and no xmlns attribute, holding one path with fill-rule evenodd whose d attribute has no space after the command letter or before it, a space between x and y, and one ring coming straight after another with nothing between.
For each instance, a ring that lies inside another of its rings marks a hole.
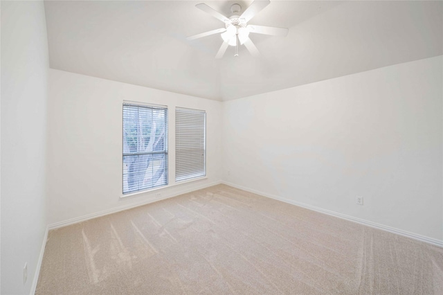
<instances>
[{"instance_id":1,"label":"narrow strip of white wall at the far left edge","mask_svg":"<svg viewBox=\"0 0 443 295\"><path fill-rule=\"evenodd\" d=\"M1 294L30 293L46 230L48 68L43 2L1 1Z\"/></svg>"}]
</instances>

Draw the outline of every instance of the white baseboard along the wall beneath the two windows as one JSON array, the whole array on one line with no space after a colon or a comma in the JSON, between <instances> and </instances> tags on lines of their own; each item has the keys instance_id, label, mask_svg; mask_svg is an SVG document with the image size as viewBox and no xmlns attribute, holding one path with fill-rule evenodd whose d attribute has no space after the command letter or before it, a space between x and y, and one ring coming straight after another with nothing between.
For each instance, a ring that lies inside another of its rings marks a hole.
<instances>
[{"instance_id":1,"label":"white baseboard along the wall beneath the two windows","mask_svg":"<svg viewBox=\"0 0 443 295\"><path fill-rule=\"evenodd\" d=\"M184 183L186 184L186 183ZM109 215L112 213L117 213L120 211L124 211L130 208L135 208L138 206L143 206L146 204L150 204L150 203L154 203L154 202L158 202L161 201L162 199L169 199L170 197L177 197L178 195L183 195L186 193L190 193L194 190L201 190L202 188L208 188L209 186L215 186L217 184L221 184L221 181L213 181L210 182L209 184L203 184L203 185L196 185L196 186L192 186L192 188L187 188L187 189L183 189L183 190L179 190L175 193L172 193L171 195L165 195L164 197L159 197L159 198L155 198L155 199L147 199L147 200L143 200L141 202L136 202L133 204L129 204L129 205L125 205L125 206L118 206L116 208L111 208L108 210L104 210L104 211L100 211L100 212L96 212L96 213L91 213L91 214L87 214L87 215L83 215L80 217L75 217L75 218L71 218L70 220L64 220L62 222L56 222L54 224L49 224L48 225L48 229L51 231L51 229L58 229L60 227L63 226L69 226L71 224L76 224L79 222L84 222L86 220L91 220L93 218L97 218L97 217L102 217L105 215Z\"/></svg>"}]
</instances>

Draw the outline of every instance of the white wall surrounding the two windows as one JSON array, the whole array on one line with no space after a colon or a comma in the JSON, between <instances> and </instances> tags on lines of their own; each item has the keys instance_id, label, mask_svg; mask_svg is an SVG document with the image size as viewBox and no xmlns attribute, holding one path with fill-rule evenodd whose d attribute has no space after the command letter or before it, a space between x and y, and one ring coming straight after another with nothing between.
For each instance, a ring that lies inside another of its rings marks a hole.
<instances>
[{"instance_id":1,"label":"white wall surrounding the two windows","mask_svg":"<svg viewBox=\"0 0 443 295\"><path fill-rule=\"evenodd\" d=\"M170 187L122 197L123 100L168 106ZM207 179L174 185L175 107L206 110ZM48 224L220 181L221 102L50 69Z\"/></svg>"}]
</instances>

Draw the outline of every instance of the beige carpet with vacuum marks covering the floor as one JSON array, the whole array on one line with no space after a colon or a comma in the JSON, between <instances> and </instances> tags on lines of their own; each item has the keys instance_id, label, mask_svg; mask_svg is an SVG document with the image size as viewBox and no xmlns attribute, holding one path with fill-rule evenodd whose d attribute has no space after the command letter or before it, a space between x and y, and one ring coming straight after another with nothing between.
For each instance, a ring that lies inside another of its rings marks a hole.
<instances>
[{"instance_id":1,"label":"beige carpet with vacuum marks covering the floor","mask_svg":"<svg viewBox=\"0 0 443 295\"><path fill-rule=\"evenodd\" d=\"M443 249L219 185L51 231L36 294L443 294Z\"/></svg>"}]
</instances>

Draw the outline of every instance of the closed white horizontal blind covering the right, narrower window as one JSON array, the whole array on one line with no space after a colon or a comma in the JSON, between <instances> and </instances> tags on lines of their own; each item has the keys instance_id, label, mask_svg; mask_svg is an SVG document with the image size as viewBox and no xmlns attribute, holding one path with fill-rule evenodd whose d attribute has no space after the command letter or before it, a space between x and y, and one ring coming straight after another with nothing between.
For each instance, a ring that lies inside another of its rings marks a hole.
<instances>
[{"instance_id":1,"label":"closed white horizontal blind covering the right, narrower window","mask_svg":"<svg viewBox=\"0 0 443 295\"><path fill-rule=\"evenodd\" d=\"M175 181L206 175L206 112L175 109Z\"/></svg>"}]
</instances>

